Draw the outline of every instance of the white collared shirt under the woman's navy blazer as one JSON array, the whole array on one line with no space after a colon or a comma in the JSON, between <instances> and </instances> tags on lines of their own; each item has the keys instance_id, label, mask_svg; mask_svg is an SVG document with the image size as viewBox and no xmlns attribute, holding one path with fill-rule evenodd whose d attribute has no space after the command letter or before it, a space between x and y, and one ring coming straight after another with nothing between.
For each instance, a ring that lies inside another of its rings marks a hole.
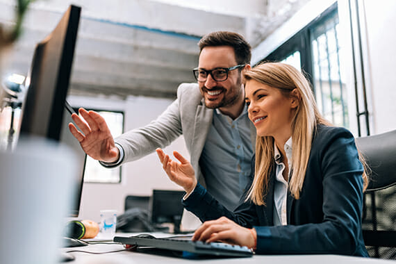
<instances>
[{"instance_id":1,"label":"white collared shirt under the woman's navy blazer","mask_svg":"<svg viewBox=\"0 0 396 264\"><path fill-rule=\"evenodd\" d=\"M289 138L286 141L284 146L286 158L288 158L288 179L290 179L290 168L292 164L292 138ZM288 200L288 182L283 179L283 170L285 170L285 165L281 162L281 153L277 145L274 142L274 158L276 163L276 176L277 178L274 181L274 225L286 225L288 224L287 218L287 205L286 201Z\"/></svg>"}]
</instances>

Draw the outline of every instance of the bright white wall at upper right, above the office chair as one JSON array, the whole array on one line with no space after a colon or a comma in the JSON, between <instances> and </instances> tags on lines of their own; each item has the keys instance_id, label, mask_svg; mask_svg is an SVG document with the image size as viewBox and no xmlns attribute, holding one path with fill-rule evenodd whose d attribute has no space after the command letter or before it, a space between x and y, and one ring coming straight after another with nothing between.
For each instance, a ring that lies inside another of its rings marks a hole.
<instances>
[{"instance_id":1,"label":"bright white wall at upper right, above the office chair","mask_svg":"<svg viewBox=\"0 0 396 264\"><path fill-rule=\"evenodd\" d=\"M396 129L396 1L362 1L372 134Z\"/></svg>"}]
</instances>

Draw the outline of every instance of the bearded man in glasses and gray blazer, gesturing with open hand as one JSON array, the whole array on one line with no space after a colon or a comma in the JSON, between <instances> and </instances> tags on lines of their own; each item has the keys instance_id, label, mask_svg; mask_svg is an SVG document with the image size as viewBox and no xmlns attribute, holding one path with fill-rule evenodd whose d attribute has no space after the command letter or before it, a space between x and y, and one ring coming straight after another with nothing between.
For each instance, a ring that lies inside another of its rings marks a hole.
<instances>
[{"instance_id":1,"label":"bearded man in glasses and gray blazer, gesturing with open hand","mask_svg":"<svg viewBox=\"0 0 396 264\"><path fill-rule=\"evenodd\" d=\"M94 111L72 115L69 129L84 151L105 167L137 160L183 134L201 185L226 208L237 205L250 173L256 129L247 117L242 71L250 69L251 47L236 33L219 31L198 43L197 83L182 83L177 99L156 120L113 140Z\"/></svg>"}]
</instances>

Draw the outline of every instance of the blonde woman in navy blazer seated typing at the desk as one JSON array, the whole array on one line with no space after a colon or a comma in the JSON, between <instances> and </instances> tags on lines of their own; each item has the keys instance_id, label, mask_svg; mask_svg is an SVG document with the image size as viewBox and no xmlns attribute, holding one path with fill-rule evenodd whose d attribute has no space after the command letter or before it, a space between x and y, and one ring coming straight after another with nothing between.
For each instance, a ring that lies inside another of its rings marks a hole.
<instances>
[{"instance_id":1,"label":"blonde woman in navy blazer seated typing at the desk","mask_svg":"<svg viewBox=\"0 0 396 264\"><path fill-rule=\"evenodd\" d=\"M167 175L203 222L193 240L223 240L257 254L368 256L361 231L368 185L354 138L319 114L310 85L294 67L265 63L245 73L245 101L256 126L254 176L230 212L197 183L188 160L161 149Z\"/></svg>"}]
</instances>

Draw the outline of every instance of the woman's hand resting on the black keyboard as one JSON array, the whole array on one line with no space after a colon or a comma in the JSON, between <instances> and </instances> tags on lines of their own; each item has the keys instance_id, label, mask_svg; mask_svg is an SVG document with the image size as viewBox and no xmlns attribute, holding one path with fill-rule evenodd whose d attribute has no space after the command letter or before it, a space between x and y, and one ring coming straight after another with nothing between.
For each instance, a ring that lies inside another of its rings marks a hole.
<instances>
[{"instance_id":1,"label":"woman's hand resting on the black keyboard","mask_svg":"<svg viewBox=\"0 0 396 264\"><path fill-rule=\"evenodd\" d=\"M192 240L204 242L222 241L233 245L255 248L257 233L255 229L242 227L223 216L217 220L204 222L195 231Z\"/></svg>"}]
</instances>

